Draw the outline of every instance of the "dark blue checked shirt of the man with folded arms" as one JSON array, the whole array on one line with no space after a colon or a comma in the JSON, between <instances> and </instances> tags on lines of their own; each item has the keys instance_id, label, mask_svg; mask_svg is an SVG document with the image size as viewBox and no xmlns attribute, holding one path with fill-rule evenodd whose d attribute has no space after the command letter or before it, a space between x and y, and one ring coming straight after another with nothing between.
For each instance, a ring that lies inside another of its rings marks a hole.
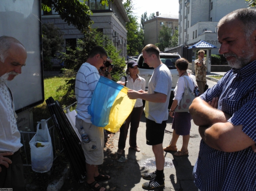
<instances>
[{"instance_id":1,"label":"dark blue checked shirt of the man with folded arms","mask_svg":"<svg viewBox=\"0 0 256 191\"><path fill-rule=\"evenodd\" d=\"M200 96L206 102L214 97L219 97L218 109L232 116L228 122L243 125L243 132L256 141L256 60L231 69ZM256 191L256 153L251 147L225 153L201 140L193 174L200 191Z\"/></svg>"}]
</instances>

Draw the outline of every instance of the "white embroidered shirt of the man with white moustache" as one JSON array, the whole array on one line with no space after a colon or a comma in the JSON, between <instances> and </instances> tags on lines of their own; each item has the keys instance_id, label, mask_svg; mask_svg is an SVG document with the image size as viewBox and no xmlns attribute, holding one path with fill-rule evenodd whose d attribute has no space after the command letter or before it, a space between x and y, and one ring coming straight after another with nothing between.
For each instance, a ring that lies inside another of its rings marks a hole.
<instances>
[{"instance_id":1,"label":"white embroidered shirt of the man with white moustache","mask_svg":"<svg viewBox=\"0 0 256 191\"><path fill-rule=\"evenodd\" d=\"M0 77L0 152L15 153L22 147L16 117L11 92Z\"/></svg>"}]
</instances>

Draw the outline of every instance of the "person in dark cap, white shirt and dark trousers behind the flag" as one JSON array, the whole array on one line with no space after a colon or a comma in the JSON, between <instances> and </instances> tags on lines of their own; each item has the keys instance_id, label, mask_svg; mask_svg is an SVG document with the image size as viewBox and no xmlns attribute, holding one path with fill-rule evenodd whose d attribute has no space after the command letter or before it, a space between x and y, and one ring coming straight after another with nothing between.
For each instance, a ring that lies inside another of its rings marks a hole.
<instances>
[{"instance_id":1,"label":"person in dark cap, white shirt and dark trousers behind the flag","mask_svg":"<svg viewBox=\"0 0 256 191\"><path fill-rule=\"evenodd\" d=\"M144 78L138 76L139 65L131 60L127 64L126 77L122 77L120 84L125 85L129 89L134 89L136 91L143 90L146 88L146 81ZM119 141L118 141L118 150L117 154L123 154L125 148L125 142L127 139L128 129L131 123L129 144L132 149L136 152L140 152L141 149L137 146L137 131L140 124L141 114L143 111L142 99L137 99L135 105L132 109L131 114L125 120L125 123L120 128Z\"/></svg>"}]
</instances>

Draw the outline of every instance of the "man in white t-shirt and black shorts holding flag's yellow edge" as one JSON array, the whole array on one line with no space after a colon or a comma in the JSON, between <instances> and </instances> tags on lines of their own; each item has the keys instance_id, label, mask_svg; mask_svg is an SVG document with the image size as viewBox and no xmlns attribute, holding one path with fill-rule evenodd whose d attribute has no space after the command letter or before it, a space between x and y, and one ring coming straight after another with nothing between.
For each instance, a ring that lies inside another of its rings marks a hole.
<instances>
[{"instance_id":1,"label":"man in white t-shirt and black shorts holding flag's yellow edge","mask_svg":"<svg viewBox=\"0 0 256 191\"><path fill-rule=\"evenodd\" d=\"M164 187L163 136L169 113L168 104L172 89L172 75L167 66L161 62L159 53L159 48L153 44L146 45L142 50L144 62L149 67L154 67L148 91L128 90L130 99L146 100L144 109L146 115L146 144L152 145L156 163L156 171L142 175L144 179L150 180L142 184L142 187L146 189Z\"/></svg>"}]
</instances>

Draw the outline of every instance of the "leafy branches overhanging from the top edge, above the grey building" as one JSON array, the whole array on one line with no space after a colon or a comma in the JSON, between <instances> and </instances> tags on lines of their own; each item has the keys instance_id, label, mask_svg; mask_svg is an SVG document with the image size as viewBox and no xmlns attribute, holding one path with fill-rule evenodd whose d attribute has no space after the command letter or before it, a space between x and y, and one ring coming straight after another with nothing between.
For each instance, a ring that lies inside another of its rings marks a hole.
<instances>
[{"instance_id":1,"label":"leafy branches overhanging from the top edge, above the grey building","mask_svg":"<svg viewBox=\"0 0 256 191\"><path fill-rule=\"evenodd\" d=\"M78 30L84 32L90 30L90 25L93 24L90 18L92 11L85 4L85 1L87 0L83 0L83 2L80 0L42 0L41 8L49 12L53 7L53 10L58 12L68 25L73 24ZM109 1L114 0L101 0L100 3L108 5Z\"/></svg>"}]
</instances>

